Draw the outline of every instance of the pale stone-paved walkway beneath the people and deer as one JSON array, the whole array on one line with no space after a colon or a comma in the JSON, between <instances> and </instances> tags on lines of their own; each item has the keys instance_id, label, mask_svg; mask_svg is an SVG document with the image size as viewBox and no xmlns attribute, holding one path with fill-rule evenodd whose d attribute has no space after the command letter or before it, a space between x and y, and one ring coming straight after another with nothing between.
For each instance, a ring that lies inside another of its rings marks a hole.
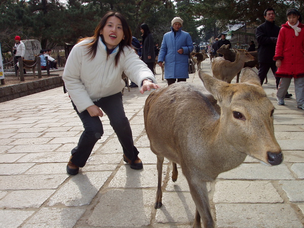
<instances>
[{"instance_id":1,"label":"pale stone-paved walkway beneath the people and deer","mask_svg":"<svg viewBox=\"0 0 304 228\"><path fill-rule=\"evenodd\" d=\"M209 59L203 69L211 72ZM159 67L157 73L159 84L166 86ZM190 77L189 82L201 83L197 72ZM293 98L285 106L276 104L272 73L263 88L276 108L275 134L284 162L269 167L247 158L210 183L217 227L304 224L304 110L296 107L293 83L288 90ZM104 135L76 176L65 168L83 127L62 88L0 103L0 227L191 227L194 202L181 172L172 182L168 161L163 207L154 209L156 156L143 123L148 94L131 88L123 98L143 170L123 162L117 136L102 117Z\"/></svg>"}]
</instances>

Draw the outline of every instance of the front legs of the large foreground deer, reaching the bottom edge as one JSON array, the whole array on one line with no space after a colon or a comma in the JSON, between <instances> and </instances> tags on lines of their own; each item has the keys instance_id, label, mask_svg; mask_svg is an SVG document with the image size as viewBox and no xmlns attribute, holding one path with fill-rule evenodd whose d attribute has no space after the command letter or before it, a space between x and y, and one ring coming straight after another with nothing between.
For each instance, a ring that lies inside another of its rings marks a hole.
<instances>
[{"instance_id":1,"label":"front legs of the large foreground deer, reaching the bottom edge","mask_svg":"<svg viewBox=\"0 0 304 228\"><path fill-rule=\"evenodd\" d=\"M202 218L204 227L214 227L213 219L210 212L209 198L206 182L202 182L200 178L187 177L190 193L196 205L196 216L193 227L201 227Z\"/></svg>"}]
</instances>

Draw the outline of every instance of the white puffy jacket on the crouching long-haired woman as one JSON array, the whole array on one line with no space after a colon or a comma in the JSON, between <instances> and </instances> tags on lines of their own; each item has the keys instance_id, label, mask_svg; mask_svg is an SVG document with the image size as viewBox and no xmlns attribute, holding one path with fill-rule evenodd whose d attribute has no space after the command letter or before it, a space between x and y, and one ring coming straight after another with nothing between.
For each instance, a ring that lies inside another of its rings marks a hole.
<instances>
[{"instance_id":1,"label":"white puffy jacket on the crouching long-haired woman","mask_svg":"<svg viewBox=\"0 0 304 228\"><path fill-rule=\"evenodd\" d=\"M107 55L106 46L99 39L96 55L91 59L87 55L88 46L84 46L90 42L92 40L87 39L72 48L62 76L65 88L79 112L94 105L93 101L121 92L125 87L123 71L139 89L144 79L157 83L154 74L131 47L124 48L115 66L119 47Z\"/></svg>"}]
</instances>

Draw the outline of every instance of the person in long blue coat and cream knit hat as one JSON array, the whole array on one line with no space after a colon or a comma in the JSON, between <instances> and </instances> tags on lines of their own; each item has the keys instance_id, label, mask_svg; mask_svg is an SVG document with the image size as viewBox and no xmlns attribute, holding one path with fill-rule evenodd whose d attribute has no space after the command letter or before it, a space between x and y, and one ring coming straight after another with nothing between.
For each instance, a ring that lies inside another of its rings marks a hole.
<instances>
[{"instance_id":1,"label":"person in long blue coat and cream knit hat","mask_svg":"<svg viewBox=\"0 0 304 228\"><path fill-rule=\"evenodd\" d=\"M185 82L189 78L188 59L189 53L194 49L191 36L181 30L183 20L175 17L171 21L171 31L164 35L158 64L162 67L165 61L165 79L168 86L177 82Z\"/></svg>"}]
</instances>

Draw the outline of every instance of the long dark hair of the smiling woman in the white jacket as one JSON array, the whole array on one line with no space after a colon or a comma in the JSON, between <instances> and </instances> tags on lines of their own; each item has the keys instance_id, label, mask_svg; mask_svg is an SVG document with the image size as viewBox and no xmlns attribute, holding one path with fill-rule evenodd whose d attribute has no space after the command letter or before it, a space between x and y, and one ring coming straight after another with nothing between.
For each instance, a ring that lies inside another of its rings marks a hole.
<instances>
[{"instance_id":1,"label":"long dark hair of the smiling woman in the white jacket","mask_svg":"<svg viewBox=\"0 0 304 228\"><path fill-rule=\"evenodd\" d=\"M126 20L126 18L118 12L113 12L113 11L109 11L107 12L100 20L99 24L97 25L97 27L95 28L95 32L94 35L91 37L87 37L85 39L82 39L80 41L86 40L86 39L92 39L93 41L89 44L86 44L86 46L88 46L88 55L91 56L91 59L93 59L96 56L96 52L97 52L97 45L98 45L98 39L99 37L101 37L101 39L103 40L103 35L100 34L100 31L104 28L106 20L109 17L115 16L117 18L119 18L122 22L123 25L123 31L124 31L124 39L118 44L119 46L119 51L117 53L117 55L115 56L115 65L117 66L119 58L120 58L120 54L122 52L124 52L124 47L125 46L130 46L131 47L131 42L132 42L132 33L131 33L131 29L128 25L128 22Z\"/></svg>"}]
</instances>

